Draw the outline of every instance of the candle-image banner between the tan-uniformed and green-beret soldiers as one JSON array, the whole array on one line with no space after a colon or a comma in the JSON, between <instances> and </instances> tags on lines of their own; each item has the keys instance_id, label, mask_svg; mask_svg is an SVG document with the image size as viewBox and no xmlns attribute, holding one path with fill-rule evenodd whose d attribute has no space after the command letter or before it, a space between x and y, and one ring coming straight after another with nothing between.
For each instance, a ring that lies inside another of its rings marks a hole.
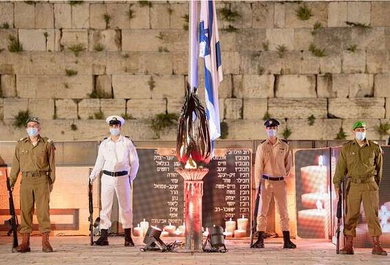
<instances>
[{"instance_id":1,"label":"candle-image banner between the tan-uniformed and green-beret soldiers","mask_svg":"<svg viewBox=\"0 0 390 265\"><path fill-rule=\"evenodd\" d=\"M328 239L331 233L329 148L294 150L297 236Z\"/></svg>"}]
</instances>

